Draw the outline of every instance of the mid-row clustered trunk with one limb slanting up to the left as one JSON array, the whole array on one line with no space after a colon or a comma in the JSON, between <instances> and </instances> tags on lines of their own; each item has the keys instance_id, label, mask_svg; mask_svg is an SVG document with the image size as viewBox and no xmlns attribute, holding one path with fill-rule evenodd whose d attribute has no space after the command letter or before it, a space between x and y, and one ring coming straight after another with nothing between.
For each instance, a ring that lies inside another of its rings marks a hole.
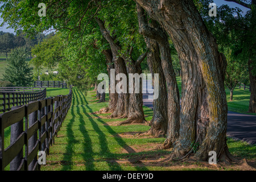
<instances>
[{"instance_id":1,"label":"mid-row clustered trunk with one limb slanting up to the left","mask_svg":"<svg viewBox=\"0 0 256 182\"><path fill-rule=\"evenodd\" d=\"M118 54L121 51L121 47L118 42L115 42L115 39L110 35L109 31L105 28L104 22L98 18L94 18L100 27L101 33L104 38L109 42L110 48L112 49L113 54L113 63L115 67L115 73L125 73L127 77L127 73L138 73L141 71L141 61L144 59L143 57L139 57L137 61L134 61L130 57L122 57ZM145 57L145 55L144 55ZM129 63L129 64L128 64ZM128 77L127 77L128 78ZM128 91L128 85L127 85ZM118 94L118 102L115 111L112 113L111 117L123 117L127 120L123 123L143 123L144 112L143 112L143 101L142 101L142 92L140 94L135 93L120 93Z\"/></svg>"}]
</instances>

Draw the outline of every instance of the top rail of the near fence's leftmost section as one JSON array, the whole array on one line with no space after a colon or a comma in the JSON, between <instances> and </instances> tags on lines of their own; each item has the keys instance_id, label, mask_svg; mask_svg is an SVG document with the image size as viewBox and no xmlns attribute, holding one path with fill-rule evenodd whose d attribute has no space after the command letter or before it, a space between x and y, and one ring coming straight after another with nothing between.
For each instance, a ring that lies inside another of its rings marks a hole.
<instances>
[{"instance_id":1,"label":"top rail of the near fence's leftmost section","mask_svg":"<svg viewBox=\"0 0 256 182\"><path fill-rule=\"evenodd\" d=\"M3 128L13 125L19 122L25 117L25 106L20 106L18 109L8 111L2 114Z\"/></svg>"}]
</instances>

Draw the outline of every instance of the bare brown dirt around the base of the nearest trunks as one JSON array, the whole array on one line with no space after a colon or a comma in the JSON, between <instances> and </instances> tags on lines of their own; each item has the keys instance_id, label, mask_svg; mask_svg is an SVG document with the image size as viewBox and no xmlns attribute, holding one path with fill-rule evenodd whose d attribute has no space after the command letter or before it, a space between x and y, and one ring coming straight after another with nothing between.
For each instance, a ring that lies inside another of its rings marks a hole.
<instances>
[{"instance_id":1,"label":"bare brown dirt around the base of the nearest trunks","mask_svg":"<svg viewBox=\"0 0 256 182\"><path fill-rule=\"evenodd\" d=\"M137 133L134 133L137 134ZM124 133L124 135L127 135ZM129 134L128 134L129 135ZM108 162L127 164L137 167L163 167L164 170L237 170L237 171L256 171L256 160L246 161L241 159L239 163L226 164L224 162L218 162L216 165L209 164L204 161L197 161L190 158L185 158L183 160L172 160L170 158L172 148L168 150L159 150L159 146L162 143L147 143L139 144L133 146L125 146L122 148L122 154L135 154L138 153L138 156L134 156L129 159L119 159L119 160L108 160ZM152 154L139 154L139 152L152 152ZM249 165L248 165L249 164Z\"/></svg>"}]
</instances>

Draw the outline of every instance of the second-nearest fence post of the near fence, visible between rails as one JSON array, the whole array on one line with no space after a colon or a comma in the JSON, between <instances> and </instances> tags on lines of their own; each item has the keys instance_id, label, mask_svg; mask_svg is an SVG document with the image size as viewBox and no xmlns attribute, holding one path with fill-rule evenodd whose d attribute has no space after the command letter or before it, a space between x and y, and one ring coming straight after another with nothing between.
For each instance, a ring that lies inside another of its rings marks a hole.
<instances>
[{"instance_id":1,"label":"second-nearest fence post of the near fence, visible between rails","mask_svg":"<svg viewBox=\"0 0 256 182\"><path fill-rule=\"evenodd\" d=\"M31 114L28 114L28 126L31 127L37 120L38 118L38 111L34 111ZM28 154L30 154L30 152L33 150L35 144L36 144L36 140L37 140L38 134L35 133L34 135L32 135L32 137L30 137L30 139L28 139ZM36 156L35 159L32 160L32 162L30 164L28 164L28 171L32 171L35 163L36 163Z\"/></svg>"}]
</instances>

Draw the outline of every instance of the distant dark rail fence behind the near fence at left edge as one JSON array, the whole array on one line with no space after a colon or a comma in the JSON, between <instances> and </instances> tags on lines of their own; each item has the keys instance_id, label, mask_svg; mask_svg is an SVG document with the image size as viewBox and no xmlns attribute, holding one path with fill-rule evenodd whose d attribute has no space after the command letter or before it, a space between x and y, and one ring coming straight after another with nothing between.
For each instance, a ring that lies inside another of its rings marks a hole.
<instances>
[{"instance_id":1,"label":"distant dark rail fence behind the near fence at left edge","mask_svg":"<svg viewBox=\"0 0 256 182\"><path fill-rule=\"evenodd\" d=\"M0 87L0 112L11 110L12 106L46 98L46 88Z\"/></svg>"}]
</instances>

